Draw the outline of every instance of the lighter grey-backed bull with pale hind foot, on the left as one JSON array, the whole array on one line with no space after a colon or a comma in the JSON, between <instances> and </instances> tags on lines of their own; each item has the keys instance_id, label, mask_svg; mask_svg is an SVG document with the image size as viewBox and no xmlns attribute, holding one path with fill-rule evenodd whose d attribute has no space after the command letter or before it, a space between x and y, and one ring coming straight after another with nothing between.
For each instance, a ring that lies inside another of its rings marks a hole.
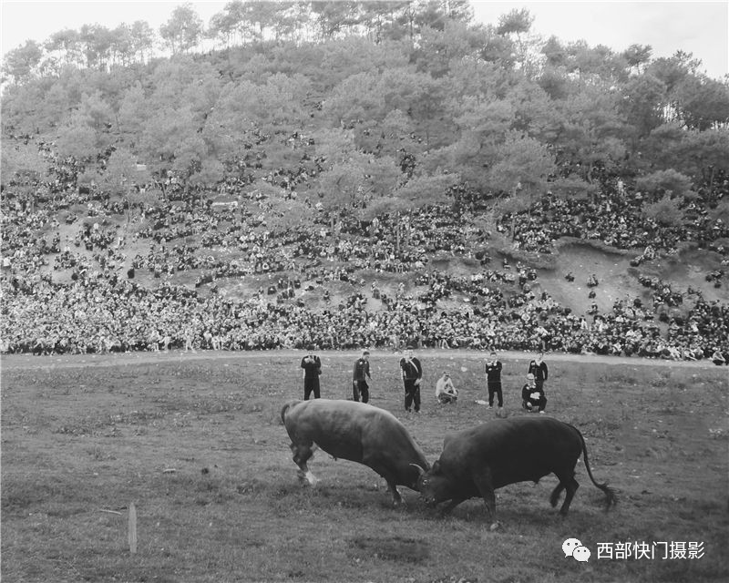
<instances>
[{"instance_id":1,"label":"lighter grey-backed bull with pale hind foot, on the left","mask_svg":"<svg viewBox=\"0 0 729 583\"><path fill-rule=\"evenodd\" d=\"M396 486L417 489L425 455L394 414L371 404L313 399L284 404L281 419L291 437L299 479L315 484L306 462L318 445L334 458L371 467L385 478L395 506L402 503Z\"/></svg>"}]
</instances>

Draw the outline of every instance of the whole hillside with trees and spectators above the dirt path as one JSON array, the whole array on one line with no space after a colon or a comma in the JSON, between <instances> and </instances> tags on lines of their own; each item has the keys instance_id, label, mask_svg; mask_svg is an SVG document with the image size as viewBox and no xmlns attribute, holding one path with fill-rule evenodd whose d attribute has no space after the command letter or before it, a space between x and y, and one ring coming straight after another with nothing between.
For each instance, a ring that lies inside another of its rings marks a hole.
<instances>
[{"instance_id":1,"label":"whole hillside with trees and spectators above the dirt path","mask_svg":"<svg viewBox=\"0 0 729 583\"><path fill-rule=\"evenodd\" d=\"M729 356L729 88L432 16L15 68L3 350Z\"/></svg>"}]
</instances>

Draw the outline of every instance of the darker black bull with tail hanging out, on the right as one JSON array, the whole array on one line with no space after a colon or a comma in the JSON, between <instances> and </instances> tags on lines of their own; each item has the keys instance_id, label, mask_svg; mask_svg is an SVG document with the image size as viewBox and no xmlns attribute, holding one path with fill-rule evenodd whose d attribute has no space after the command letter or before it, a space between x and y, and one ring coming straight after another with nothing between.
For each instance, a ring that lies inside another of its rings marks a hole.
<instances>
[{"instance_id":1,"label":"darker black bull with tail hanging out, on the right","mask_svg":"<svg viewBox=\"0 0 729 583\"><path fill-rule=\"evenodd\" d=\"M508 484L532 481L554 473L560 484L549 496L557 506L566 491L560 514L566 515L580 486L575 480L575 466L583 455L592 483L606 496L606 509L617 498L607 484L598 484L592 476L587 446L580 431L570 424L550 417L512 417L497 419L446 436L443 452L429 469L421 469L417 489L429 506L450 500L450 512L468 498L481 496L488 519L495 517L494 490Z\"/></svg>"}]
</instances>

